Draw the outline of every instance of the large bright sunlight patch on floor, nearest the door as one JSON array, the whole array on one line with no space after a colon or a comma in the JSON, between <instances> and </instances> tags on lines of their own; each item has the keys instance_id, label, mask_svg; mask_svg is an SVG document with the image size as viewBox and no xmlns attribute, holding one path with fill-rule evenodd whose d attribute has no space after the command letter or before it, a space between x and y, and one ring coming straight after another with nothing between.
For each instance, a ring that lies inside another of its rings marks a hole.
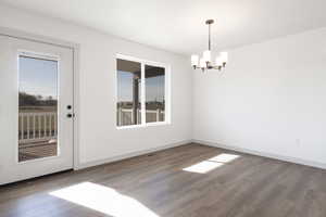
<instances>
[{"instance_id":1,"label":"large bright sunlight patch on floor, nearest the door","mask_svg":"<svg viewBox=\"0 0 326 217\"><path fill-rule=\"evenodd\" d=\"M137 200L92 182L82 182L49 194L114 217L160 217Z\"/></svg>"}]
</instances>

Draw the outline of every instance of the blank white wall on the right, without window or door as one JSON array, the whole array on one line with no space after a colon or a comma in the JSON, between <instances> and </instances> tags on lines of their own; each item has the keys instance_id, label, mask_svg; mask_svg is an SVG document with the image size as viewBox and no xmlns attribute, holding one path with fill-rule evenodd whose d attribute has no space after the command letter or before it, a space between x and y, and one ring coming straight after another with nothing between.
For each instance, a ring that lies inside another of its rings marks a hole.
<instances>
[{"instance_id":1,"label":"blank white wall on the right, without window or door","mask_svg":"<svg viewBox=\"0 0 326 217\"><path fill-rule=\"evenodd\" d=\"M196 73L193 138L325 164L326 28L231 50L224 75Z\"/></svg>"}]
</instances>

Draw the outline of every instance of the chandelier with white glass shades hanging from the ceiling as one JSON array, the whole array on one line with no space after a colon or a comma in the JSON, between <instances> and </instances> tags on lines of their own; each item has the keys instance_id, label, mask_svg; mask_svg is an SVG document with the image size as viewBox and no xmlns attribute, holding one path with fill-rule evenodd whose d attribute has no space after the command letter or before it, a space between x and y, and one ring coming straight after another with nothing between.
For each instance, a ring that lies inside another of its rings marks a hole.
<instances>
[{"instance_id":1,"label":"chandelier with white glass shades hanging from the ceiling","mask_svg":"<svg viewBox=\"0 0 326 217\"><path fill-rule=\"evenodd\" d=\"M211 52L211 25L214 23L214 20L208 20L205 22L209 25L209 50L203 52L201 59L199 55L191 55L191 65L193 69L200 68L202 72L208 69L218 69L221 71L226 66L227 63L227 52L221 52L216 59L215 64L212 63L212 52Z\"/></svg>"}]
</instances>

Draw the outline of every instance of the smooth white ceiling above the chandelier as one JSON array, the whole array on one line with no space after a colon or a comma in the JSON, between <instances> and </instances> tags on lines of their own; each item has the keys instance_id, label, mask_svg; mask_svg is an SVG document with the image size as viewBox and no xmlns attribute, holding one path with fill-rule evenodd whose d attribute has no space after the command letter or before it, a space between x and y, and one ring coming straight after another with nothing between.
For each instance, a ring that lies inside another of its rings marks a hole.
<instances>
[{"instance_id":1,"label":"smooth white ceiling above the chandelier","mask_svg":"<svg viewBox=\"0 0 326 217\"><path fill-rule=\"evenodd\" d=\"M325 0L0 0L139 43L181 54L326 26Z\"/></svg>"}]
</instances>

